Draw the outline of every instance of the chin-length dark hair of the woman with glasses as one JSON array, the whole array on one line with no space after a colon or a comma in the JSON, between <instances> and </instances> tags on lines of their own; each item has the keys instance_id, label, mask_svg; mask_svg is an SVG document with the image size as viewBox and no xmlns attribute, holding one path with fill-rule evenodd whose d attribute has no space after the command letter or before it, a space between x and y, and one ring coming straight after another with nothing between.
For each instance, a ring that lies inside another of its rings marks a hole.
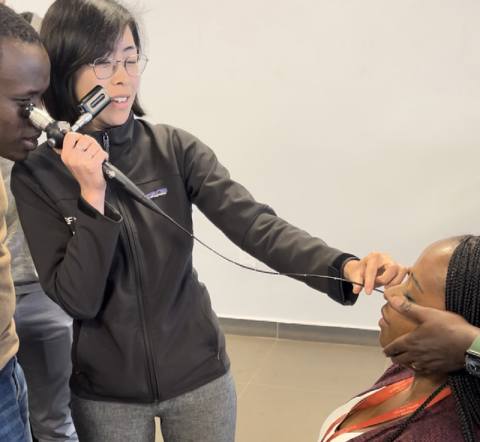
<instances>
[{"instance_id":1,"label":"chin-length dark hair of the woman with glasses","mask_svg":"<svg viewBox=\"0 0 480 442\"><path fill-rule=\"evenodd\" d=\"M114 0L56 0L48 9L40 37L52 65L50 87L43 95L45 107L55 120L73 123L79 117L73 77L82 66L114 51L127 26L141 50L138 24L133 15ZM138 97L132 107L145 112Z\"/></svg>"}]
</instances>

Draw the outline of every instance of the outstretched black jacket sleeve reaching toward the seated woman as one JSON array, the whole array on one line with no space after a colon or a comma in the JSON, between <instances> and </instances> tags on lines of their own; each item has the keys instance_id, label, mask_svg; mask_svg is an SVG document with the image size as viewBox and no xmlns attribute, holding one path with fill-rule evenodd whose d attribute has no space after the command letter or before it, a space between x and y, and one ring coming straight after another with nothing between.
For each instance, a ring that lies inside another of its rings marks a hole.
<instances>
[{"instance_id":1,"label":"outstretched black jacket sleeve reaching toward the seated woman","mask_svg":"<svg viewBox=\"0 0 480 442\"><path fill-rule=\"evenodd\" d=\"M329 247L254 200L217 160L211 149L177 130L173 137L179 167L190 200L242 250L280 273L341 277L353 255ZM358 298L352 284L318 277L295 277L352 305Z\"/></svg>"}]
</instances>

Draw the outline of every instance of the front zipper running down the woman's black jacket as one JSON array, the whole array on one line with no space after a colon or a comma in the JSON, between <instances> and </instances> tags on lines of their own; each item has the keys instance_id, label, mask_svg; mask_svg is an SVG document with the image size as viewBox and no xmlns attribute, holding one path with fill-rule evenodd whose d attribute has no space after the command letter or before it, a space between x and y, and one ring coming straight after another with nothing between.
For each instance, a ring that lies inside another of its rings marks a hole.
<instances>
[{"instance_id":1,"label":"front zipper running down the woman's black jacket","mask_svg":"<svg viewBox=\"0 0 480 442\"><path fill-rule=\"evenodd\" d=\"M104 132L103 134L103 147L107 153L109 153L110 150L110 140L108 138L108 133ZM136 287L136 281L139 283L139 290L136 290L136 296L137 296L137 301L139 304L139 312L140 312L140 320L142 322L142 333L143 333L143 339L145 342L145 353L146 353L146 359L147 359L147 372L148 372L148 380L150 383L150 389L152 393L152 397L154 402L159 402L160 397L159 397L159 388L158 388L158 379L157 379L157 373L155 370L155 362L153 358L153 347L152 347L152 341L150 339L149 333L148 333L148 327L147 327L147 315L146 315L146 309L145 309L145 302L143 299L143 282L142 282L142 275L140 272L140 268L137 265L138 260L138 251L137 251L137 245L135 243L135 239L131 237L130 233L131 232L131 221L130 217L128 215L127 210L125 209L125 206L123 205L122 201L120 200L117 192L115 189L113 190L113 194L116 197L116 200L118 201L118 206L119 206L119 211L120 214L122 215L123 219L125 220L125 223L122 223L122 228L125 232L125 239L127 241L127 252L128 252L128 257L129 261L133 265L134 273L135 273L135 281L134 281L134 287ZM127 224L127 225L126 225Z\"/></svg>"}]
</instances>

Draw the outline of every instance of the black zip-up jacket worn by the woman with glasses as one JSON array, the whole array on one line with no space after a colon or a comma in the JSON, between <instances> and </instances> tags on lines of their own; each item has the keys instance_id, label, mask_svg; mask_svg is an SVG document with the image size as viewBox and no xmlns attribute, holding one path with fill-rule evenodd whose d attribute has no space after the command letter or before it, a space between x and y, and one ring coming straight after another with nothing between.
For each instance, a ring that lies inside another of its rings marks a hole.
<instances>
[{"instance_id":1,"label":"black zip-up jacket worn by the woman with glasses","mask_svg":"<svg viewBox=\"0 0 480 442\"><path fill-rule=\"evenodd\" d=\"M279 272L340 276L352 259L257 203L212 150L182 130L131 116L91 135L190 232L195 204L237 246ZM225 338L192 267L189 235L112 183L100 214L46 145L15 165L12 191L42 287L75 319L75 394L153 403L226 373ZM350 284L305 282L337 302L356 301Z\"/></svg>"}]
</instances>

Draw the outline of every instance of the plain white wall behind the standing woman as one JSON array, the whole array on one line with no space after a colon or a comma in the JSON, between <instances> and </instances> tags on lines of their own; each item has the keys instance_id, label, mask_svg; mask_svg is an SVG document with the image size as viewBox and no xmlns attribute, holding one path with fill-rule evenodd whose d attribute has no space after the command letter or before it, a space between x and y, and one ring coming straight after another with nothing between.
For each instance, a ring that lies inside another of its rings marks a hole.
<instances>
[{"instance_id":1,"label":"plain white wall behind the standing woman","mask_svg":"<svg viewBox=\"0 0 480 442\"><path fill-rule=\"evenodd\" d=\"M50 0L8 4L43 14ZM136 10L148 118L197 135L280 216L406 265L437 239L478 232L478 1L144 0ZM195 233L239 257L200 215ZM337 306L200 246L195 265L226 317L376 328L384 302Z\"/></svg>"}]
</instances>

